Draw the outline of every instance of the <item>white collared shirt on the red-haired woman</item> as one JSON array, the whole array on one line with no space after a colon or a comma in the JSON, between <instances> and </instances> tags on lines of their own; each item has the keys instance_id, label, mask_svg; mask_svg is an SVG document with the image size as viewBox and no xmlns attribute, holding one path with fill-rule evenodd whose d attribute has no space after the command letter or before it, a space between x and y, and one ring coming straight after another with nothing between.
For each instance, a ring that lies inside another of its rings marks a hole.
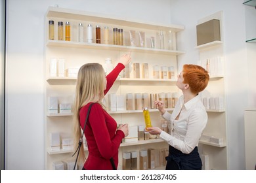
<instances>
[{"instance_id":1,"label":"white collared shirt on the red-haired woman","mask_svg":"<svg viewBox=\"0 0 256 183\"><path fill-rule=\"evenodd\" d=\"M178 115L179 119L175 120ZM184 96L182 95L173 113L170 114L166 111L162 117L168 122L170 134L161 131L161 139L184 154L189 154L198 146L208 119L199 95L186 103L184 103Z\"/></svg>"}]
</instances>

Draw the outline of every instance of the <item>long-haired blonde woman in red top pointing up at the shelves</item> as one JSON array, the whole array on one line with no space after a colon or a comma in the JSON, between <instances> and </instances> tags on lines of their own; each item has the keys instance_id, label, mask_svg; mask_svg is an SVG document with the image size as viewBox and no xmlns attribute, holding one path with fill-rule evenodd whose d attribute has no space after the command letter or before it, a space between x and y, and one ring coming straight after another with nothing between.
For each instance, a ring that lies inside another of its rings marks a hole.
<instances>
[{"instance_id":1,"label":"long-haired blonde woman in red top pointing up at the shelves","mask_svg":"<svg viewBox=\"0 0 256 183\"><path fill-rule=\"evenodd\" d=\"M101 101L119 73L130 62L130 54L124 54L119 59L117 66L107 76L99 63L86 63L79 69L74 108L75 146L81 138L89 105L95 103L91 107L85 127L89 155L85 161L82 145L78 158L79 162L85 162L83 169L113 169L110 158L114 159L116 167L118 165L118 148L122 139L129 133L128 125L121 125L117 129L116 121L106 112Z\"/></svg>"}]
</instances>

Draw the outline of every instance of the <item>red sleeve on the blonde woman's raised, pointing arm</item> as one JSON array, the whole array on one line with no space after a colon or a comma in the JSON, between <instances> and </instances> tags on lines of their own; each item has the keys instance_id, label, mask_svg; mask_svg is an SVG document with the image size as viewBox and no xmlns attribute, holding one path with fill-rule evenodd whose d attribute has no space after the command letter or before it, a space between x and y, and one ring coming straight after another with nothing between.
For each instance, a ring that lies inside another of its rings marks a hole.
<instances>
[{"instance_id":1,"label":"red sleeve on the blonde woman's raised, pointing arm","mask_svg":"<svg viewBox=\"0 0 256 183\"><path fill-rule=\"evenodd\" d=\"M106 90L104 90L104 95L106 95L106 93L108 93L108 90L110 90L110 88L112 87L112 85L114 84L117 76L119 75L119 73L125 68L125 65L123 65L123 63L118 63L116 65L116 67L111 71L111 73L109 73L106 76L106 80L107 80L107 86L106 86Z\"/></svg>"}]
</instances>

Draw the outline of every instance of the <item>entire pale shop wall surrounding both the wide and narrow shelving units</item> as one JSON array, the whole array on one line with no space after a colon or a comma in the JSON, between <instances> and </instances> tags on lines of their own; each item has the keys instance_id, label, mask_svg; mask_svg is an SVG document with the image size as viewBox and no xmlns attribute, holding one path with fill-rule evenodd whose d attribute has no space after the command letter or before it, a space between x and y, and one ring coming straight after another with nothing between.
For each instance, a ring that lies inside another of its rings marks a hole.
<instances>
[{"instance_id":1,"label":"entire pale shop wall surrounding both the wide and narrow shelving units","mask_svg":"<svg viewBox=\"0 0 256 183\"><path fill-rule=\"evenodd\" d=\"M44 169L44 30L45 12L58 5L88 12L125 16L145 22L184 25L178 36L179 69L196 63L196 24L204 16L224 11L229 169L245 169L244 109L248 107L248 82L255 46L245 44L242 0L12 0L7 1L7 131L5 169ZM29 6L28 6L29 5ZM21 8L22 7L22 8ZM106 8L108 7L108 8ZM200 8L200 10L199 10ZM248 50L249 49L249 50ZM249 53L249 54L248 54ZM255 68L255 67L254 67ZM247 72L248 71L248 72ZM240 75L238 74L240 73ZM254 72L255 73L255 72ZM252 90L255 88L252 88ZM255 104L252 107L256 107Z\"/></svg>"}]
</instances>

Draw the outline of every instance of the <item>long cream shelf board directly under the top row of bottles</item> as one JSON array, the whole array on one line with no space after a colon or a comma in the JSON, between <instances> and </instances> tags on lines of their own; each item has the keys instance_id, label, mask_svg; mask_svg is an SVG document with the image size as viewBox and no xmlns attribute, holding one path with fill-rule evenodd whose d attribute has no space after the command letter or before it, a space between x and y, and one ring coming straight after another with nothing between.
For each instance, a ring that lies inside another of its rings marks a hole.
<instances>
[{"instance_id":1,"label":"long cream shelf board directly under the top row of bottles","mask_svg":"<svg viewBox=\"0 0 256 183\"><path fill-rule=\"evenodd\" d=\"M157 48L141 48L136 46L119 46L114 44L96 44L88 42L75 42L75 41L56 41L48 40L46 46L60 46L67 48L87 48L87 49L105 49L105 50L115 50L120 52L141 52L141 53L150 53L150 54L166 54L179 56L185 52L177 50L162 50Z\"/></svg>"}]
</instances>

